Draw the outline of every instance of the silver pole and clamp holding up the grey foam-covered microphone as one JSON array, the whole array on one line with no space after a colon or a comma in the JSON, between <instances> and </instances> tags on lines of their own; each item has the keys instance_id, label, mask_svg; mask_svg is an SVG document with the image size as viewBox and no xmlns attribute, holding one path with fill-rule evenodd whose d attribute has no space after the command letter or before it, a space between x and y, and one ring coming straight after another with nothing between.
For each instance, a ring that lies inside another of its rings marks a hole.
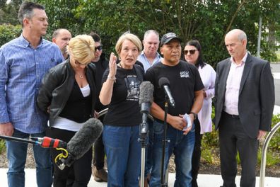
<instances>
[{"instance_id":1,"label":"silver pole and clamp holding up the grey foam-covered microphone","mask_svg":"<svg viewBox=\"0 0 280 187\"><path fill-rule=\"evenodd\" d=\"M146 154L146 138L148 135L148 123L147 114L143 113L142 122L139 126L139 142L141 142L141 176L140 176L140 186L144 187L145 179L145 154Z\"/></svg>"}]
</instances>

